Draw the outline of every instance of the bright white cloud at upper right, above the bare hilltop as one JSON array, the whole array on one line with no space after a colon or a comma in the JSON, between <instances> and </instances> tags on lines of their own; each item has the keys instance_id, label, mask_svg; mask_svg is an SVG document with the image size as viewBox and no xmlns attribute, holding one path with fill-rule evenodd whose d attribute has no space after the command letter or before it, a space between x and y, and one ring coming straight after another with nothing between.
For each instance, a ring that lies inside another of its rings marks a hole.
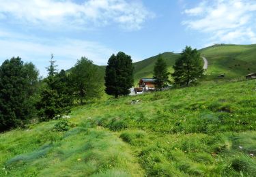
<instances>
[{"instance_id":1,"label":"bright white cloud at upper right, above the bare hilltop","mask_svg":"<svg viewBox=\"0 0 256 177\"><path fill-rule=\"evenodd\" d=\"M188 29L209 34L208 43L255 43L256 1L208 0L184 10Z\"/></svg>"}]
</instances>

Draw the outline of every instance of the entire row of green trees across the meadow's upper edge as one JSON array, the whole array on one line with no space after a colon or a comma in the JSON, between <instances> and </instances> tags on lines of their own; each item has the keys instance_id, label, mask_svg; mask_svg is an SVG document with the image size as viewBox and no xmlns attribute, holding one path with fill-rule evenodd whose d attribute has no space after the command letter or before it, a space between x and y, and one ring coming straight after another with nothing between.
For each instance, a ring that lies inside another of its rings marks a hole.
<instances>
[{"instance_id":1,"label":"entire row of green trees across the meadow's upper edge","mask_svg":"<svg viewBox=\"0 0 256 177\"><path fill-rule=\"evenodd\" d=\"M0 66L0 132L25 127L31 120L46 121L68 114L72 106L102 96L103 91L115 98L128 95L134 83L132 59L124 52L113 54L104 77L93 61L81 57L70 70L57 70L53 54L46 67L48 76L39 77L33 63L20 57L5 60ZM175 84L188 86L203 74L203 65L196 49L186 47L173 66ZM170 83L167 64L159 55L154 66L156 86Z\"/></svg>"}]
</instances>

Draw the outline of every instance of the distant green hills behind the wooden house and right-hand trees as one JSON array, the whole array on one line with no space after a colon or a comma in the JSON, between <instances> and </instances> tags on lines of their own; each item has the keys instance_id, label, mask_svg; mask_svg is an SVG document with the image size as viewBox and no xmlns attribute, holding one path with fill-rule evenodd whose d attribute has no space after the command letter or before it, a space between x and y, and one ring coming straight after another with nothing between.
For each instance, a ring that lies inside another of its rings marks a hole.
<instances>
[{"instance_id":1,"label":"distant green hills behind the wooden house and right-hand trees","mask_svg":"<svg viewBox=\"0 0 256 177\"><path fill-rule=\"evenodd\" d=\"M199 50L208 60L208 70L203 80L218 80L218 76L225 74L223 80L244 78L247 74L256 72L256 44L253 45L216 45ZM180 54L165 52L162 57L167 62L170 72L173 72L175 60ZM140 78L153 76L154 63L157 56L134 63L134 84Z\"/></svg>"}]
</instances>

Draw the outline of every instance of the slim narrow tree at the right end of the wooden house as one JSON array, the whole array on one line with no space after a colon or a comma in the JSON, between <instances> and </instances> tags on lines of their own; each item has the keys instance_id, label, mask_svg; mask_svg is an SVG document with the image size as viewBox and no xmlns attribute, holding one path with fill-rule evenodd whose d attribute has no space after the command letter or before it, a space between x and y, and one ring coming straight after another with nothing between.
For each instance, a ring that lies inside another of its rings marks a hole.
<instances>
[{"instance_id":1,"label":"slim narrow tree at the right end of the wooden house","mask_svg":"<svg viewBox=\"0 0 256 177\"><path fill-rule=\"evenodd\" d=\"M162 55L159 54L156 64L154 65L156 88L162 89L164 86L167 86L167 84L170 83L169 75L167 63L162 59Z\"/></svg>"}]
</instances>

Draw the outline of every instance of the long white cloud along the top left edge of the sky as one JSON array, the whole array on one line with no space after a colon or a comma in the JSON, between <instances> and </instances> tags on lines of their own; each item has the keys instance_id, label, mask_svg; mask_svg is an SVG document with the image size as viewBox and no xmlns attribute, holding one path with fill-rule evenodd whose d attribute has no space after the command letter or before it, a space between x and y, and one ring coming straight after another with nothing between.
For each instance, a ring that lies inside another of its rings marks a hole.
<instances>
[{"instance_id":1,"label":"long white cloud along the top left edge of the sky","mask_svg":"<svg viewBox=\"0 0 256 177\"><path fill-rule=\"evenodd\" d=\"M115 23L124 29L141 29L154 14L142 3L126 0L0 0L0 20L40 27L87 29Z\"/></svg>"}]
</instances>

